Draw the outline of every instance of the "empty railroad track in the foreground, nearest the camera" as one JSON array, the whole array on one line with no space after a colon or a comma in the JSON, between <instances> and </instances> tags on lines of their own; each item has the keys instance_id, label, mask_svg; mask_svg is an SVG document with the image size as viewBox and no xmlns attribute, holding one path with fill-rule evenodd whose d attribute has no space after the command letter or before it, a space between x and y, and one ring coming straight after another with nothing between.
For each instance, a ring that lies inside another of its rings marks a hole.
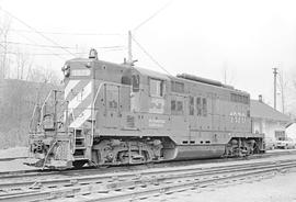
<instances>
[{"instance_id":1,"label":"empty railroad track in the foreground, nearest the camera","mask_svg":"<svg viewBox=\"0 0 296 202\"><path fill-rule=\"evenodd\" d=\"M183 167L0 183L0 201L122 201L182 191L206 183L296 167L296 159L248 162L207 169ZM70 198L70 199L68 199Z\"/></svg>"}]
</instances>

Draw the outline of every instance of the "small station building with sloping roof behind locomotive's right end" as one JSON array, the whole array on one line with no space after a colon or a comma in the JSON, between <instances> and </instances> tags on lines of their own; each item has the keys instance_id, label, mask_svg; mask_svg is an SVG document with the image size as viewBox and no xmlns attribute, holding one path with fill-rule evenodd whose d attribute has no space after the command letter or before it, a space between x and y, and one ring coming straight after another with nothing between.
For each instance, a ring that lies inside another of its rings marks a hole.
<instances>
[{"instance_id":1,"label":"small station building with sloping roof behind locomotive's right end","mask_svg":"<svg viewBox=\"0 0 296 202\"><path fill-rule=\"evenodd\" d=\"M262 97L251 100L251 120L253 133L263 133L270 141L287 139L285 130L291 122L289 116L264 103Z\"/></svg>"}]
</instances>

